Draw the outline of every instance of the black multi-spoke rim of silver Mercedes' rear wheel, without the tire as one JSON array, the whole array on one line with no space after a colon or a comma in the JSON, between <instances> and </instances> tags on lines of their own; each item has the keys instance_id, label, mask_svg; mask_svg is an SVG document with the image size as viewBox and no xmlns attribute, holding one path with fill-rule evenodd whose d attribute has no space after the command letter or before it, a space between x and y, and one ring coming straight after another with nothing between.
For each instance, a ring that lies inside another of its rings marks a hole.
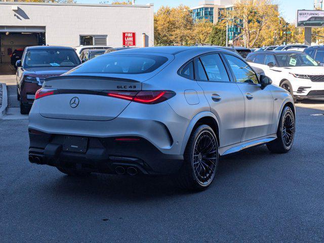
<instances>
[{"instance_id":1,"label":"black multi-spoke rim of silver Mercedes' rear wheel, without the tire","mask_svg":"<svg viewBox=\"0 0 324 243\"><path fill-rule=\"evenodd\" d=\"M192 155L194 175L200 184L206 185L214 179L217 160L216 139L210 131L203 131L195 141Z\"/></svg>"}]
</instances>

